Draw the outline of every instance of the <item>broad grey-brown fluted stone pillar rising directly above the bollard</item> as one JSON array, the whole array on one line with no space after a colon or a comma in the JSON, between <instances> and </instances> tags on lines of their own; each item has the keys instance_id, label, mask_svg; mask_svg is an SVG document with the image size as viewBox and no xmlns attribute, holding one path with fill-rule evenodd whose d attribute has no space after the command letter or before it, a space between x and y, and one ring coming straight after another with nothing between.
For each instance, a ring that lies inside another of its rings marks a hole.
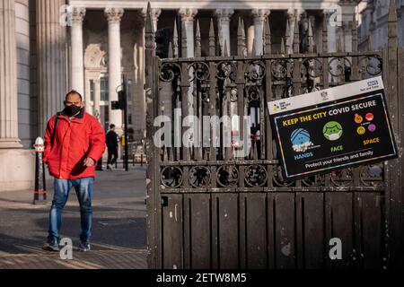
<instances>
[{"instance_id":1,"label":"broad grey-brown fluted stone pillar rising directly above the bollard","mask_svg":"<svg viewBox=\"0 0 404 287\"><path fill-rule=\"evenodd\" d=\"M37 75L39 135L48 119L63 109L66 96L66 27L59 9L65 0L37 0Z\"/></svg>"}]
</instances>

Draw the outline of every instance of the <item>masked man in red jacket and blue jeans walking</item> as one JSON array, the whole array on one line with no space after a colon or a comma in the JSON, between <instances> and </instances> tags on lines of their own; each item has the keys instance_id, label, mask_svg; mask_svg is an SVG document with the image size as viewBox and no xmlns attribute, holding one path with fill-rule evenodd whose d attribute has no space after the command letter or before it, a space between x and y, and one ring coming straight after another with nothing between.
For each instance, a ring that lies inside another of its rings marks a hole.
<instances>
[{"instance_id":1,"label":"masked man in red jacket and blue jeans walking","mask_svg":"<svg viewBox=\"0 0 404 287\"><path fill-rule=\"evenodd\" d=\"M44 249L57 251L62 213L70 189L75 187L80 204L82 233L80 250L90 250L92 235L92 185L95 163L105 150L105 132L95 117L83 109L82 95L66 94L65 109L51 117L45 133L43 161L54 179L54 197L49 213L48 240Z\"/></svg>"}]
</instances>

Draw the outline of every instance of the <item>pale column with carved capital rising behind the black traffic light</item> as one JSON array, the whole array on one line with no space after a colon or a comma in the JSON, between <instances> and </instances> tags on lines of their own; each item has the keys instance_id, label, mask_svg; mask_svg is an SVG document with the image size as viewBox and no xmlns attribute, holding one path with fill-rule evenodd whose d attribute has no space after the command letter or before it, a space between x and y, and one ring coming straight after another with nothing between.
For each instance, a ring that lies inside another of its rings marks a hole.
<instances>
[{"instance_id":1,"label":"pale column with carved capital rising behind the black traffic light","mask_svg":"<svg viewBox=\"0 0 404 287\"><path fill-rule=\"evenodd\" d=\"M108 19L108 74L110 101L118 100L117 88L121 81L121 48L120 48L120 20L124 10L121 8L106 8ZM121 90L119 88L118 90ZM110 106L111 108L111 106ZM122 111L110 109L110 124L117 126L117 132L122 134Z\"/></svg>"}]
</instances>

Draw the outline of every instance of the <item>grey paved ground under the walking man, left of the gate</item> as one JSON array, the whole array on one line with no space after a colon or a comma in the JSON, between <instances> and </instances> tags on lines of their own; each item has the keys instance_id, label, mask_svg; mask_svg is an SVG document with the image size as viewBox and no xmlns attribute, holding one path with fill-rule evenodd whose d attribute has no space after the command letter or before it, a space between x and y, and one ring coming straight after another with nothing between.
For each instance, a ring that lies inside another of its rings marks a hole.
<instances>
[{"instance_id":1,"label":"grey paved ground under the walking man, left of the gate","mask_svg":"<svg viewBox=\"0 0 404 287\"><path fill-rule=\"evenodd\" d=\"M121 167L121 165L120 165ZM61 238L73 241L73 259L41 249L48 236L53 184L45 202L33 190L0 192L0 269L144 269L146 265L145 167L97 171L92 191L92 250L79 252L80 212L72 189Z\"/></svg>"}]
</instances>

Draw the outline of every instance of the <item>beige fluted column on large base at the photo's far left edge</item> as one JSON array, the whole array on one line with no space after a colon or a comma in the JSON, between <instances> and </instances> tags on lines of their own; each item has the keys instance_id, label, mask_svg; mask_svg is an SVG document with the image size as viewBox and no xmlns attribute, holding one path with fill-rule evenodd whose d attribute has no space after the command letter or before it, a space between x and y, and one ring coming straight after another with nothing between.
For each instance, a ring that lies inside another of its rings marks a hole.
<instances>
[{"instance_id":1,"label":"beige fluted column on large base at the photo's far left edge","mask_svg":"<svg viewBox=\"0 0 404 287\"><path fill-rule=\"evenodd\" d=\"M18 138L17 46L14 1L0 2L0 149L21 148Z\"/></svg>"}]
</instances>

